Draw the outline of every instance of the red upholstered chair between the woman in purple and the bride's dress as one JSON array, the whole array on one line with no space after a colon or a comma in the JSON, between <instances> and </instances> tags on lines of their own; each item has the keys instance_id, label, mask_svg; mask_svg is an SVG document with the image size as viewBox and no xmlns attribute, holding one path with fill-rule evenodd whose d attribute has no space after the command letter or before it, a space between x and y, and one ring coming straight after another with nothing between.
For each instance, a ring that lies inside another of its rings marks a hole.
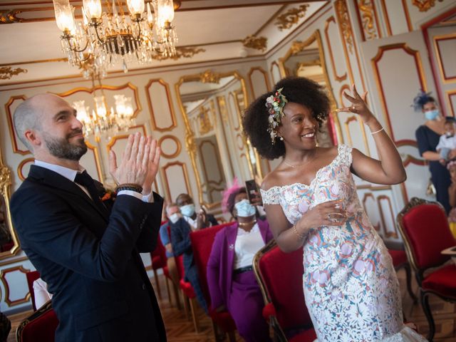
<instances>
[{"instance_id":1,"label":"red upholstered chair between the woman in purple and the bride's dress","mask_svg":"<svg viewBox=\"0 0 456 342\"><path fill-rule=\"evenodd\" d=\"M302 248L281 252L272 240L254 257L254 271L263 294L263 316L275 341L312 342L316 333L304 301Z\"/></svg>"}]
</instances>

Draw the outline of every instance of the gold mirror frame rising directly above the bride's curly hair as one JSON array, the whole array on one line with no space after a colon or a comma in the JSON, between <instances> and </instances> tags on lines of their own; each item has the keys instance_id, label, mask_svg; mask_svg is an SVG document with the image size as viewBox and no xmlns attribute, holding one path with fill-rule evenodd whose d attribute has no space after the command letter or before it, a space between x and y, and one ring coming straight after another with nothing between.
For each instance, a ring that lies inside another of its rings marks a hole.
<instances>
[{"instance_id":1,"label":"gold mirror frame rising directly above the bride's curly hair","mask_svg":"<svg viewBox=\"0 0 456 342\"><path fill-rule=\"evenodd\" d=\"M328 68L326 68L325 52L323 51L323 42L321 41L320 30L316 30L314 33L312 33L311 36L309 36L309 38L306 39L306 41L294 41L293 43L291 43L291 47L288 51L286 51L285 56L279 58L279 71L282 78L290 76L286 73L286 61L288 61L291 56L296 55L296 53L303 51L304 48L311 45L311 43L314 43L314 41L316 41L318 44L318 55L320 57L321 68L323 69L323 76L325 78L326 88L328 90L329 102L331 104L331 111L329 115L333 120L334 125L336 126L339 140L340 137L342 137L343 135L341 132L341 125L339 123L338 117L334 112L334 110L336 110L337 108L337 102L336 98L334 97L333 86L331 86L331 82L329 81Z\"/></svg>"}]
</instances>

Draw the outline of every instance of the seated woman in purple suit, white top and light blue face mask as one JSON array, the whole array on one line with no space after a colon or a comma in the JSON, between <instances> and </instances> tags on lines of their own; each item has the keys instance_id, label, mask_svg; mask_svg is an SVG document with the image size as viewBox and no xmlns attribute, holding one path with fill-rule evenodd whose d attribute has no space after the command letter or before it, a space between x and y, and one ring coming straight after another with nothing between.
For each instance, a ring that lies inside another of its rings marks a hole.
<instances>
[{"instance_id":1,"label":"seated woman in purple suit, white top and light blue face mask","mask_svg":"<svg viewBox=\"0 0 456 342\"><path fill-rule=\"evenodd\" d=\"M261 311L263 297L252 269L254 255L272 239L267 221L258 220L245 187L224 192L223 207L237 220L215 235L207 263L212 308L227 309L245 341L271 341Z\"/></svg>"}]
</instances>

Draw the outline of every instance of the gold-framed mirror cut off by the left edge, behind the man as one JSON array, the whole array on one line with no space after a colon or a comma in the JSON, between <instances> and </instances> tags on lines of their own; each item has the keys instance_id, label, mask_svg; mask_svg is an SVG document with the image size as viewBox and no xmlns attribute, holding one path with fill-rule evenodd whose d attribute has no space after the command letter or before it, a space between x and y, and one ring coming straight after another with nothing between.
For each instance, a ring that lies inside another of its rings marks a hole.
<instances>
[{"instance_id":1,"label":"gold-framed mirror cut off by the left edge, behind the man","mask_svg":"<svg viewBox=\"0 0 456 342\"><path fill-rule=\"evenodd\" d=\"M3 165L0 148L0 259L11 257L19 252L19 239L13 229L9 212L11 171Z\"/></svg>"}]
</instances>

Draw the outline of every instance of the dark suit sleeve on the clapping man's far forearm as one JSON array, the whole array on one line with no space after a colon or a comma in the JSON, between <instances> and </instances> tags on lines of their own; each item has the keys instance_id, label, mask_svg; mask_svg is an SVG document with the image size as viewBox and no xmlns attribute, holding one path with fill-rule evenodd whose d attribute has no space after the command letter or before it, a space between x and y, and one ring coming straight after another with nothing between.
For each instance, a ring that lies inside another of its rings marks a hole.
<instances>
[{"instance_id":1,"label":"dark suit sleeve on the clapping man's far forearm","mask_svg":"<svg viewBox=\"0 0 456 342\"><path fill-rule=\"evenodd\" d=\"M144 228L136 240L136 248L140 253L152 252L157 247L157 236L162 222L163 199L154 192L154 202L150 203L150 212Z\"/></svg>"}]
</instances>

